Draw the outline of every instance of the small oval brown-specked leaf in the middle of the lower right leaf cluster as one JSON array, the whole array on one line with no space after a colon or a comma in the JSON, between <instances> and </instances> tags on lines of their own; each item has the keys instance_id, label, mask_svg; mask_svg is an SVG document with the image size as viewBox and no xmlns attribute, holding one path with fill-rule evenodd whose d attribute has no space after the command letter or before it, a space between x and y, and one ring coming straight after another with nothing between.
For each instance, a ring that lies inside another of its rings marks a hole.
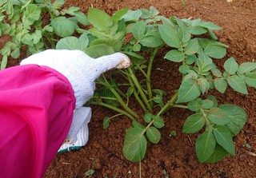
<instances>
[{"instance_id":1,"label":"small oval brown-specked leaf in the middle of the lower right leaf cluster","mask_svg":"<svg viewBox=\"0 0 256 178\"><path fill-rule=\"evenodd\" d=\"M210 109L207 117L216 125L226 125L230 122L229 118L226 117L226 112L219 108Z\"/></svg>"}]
</instances>

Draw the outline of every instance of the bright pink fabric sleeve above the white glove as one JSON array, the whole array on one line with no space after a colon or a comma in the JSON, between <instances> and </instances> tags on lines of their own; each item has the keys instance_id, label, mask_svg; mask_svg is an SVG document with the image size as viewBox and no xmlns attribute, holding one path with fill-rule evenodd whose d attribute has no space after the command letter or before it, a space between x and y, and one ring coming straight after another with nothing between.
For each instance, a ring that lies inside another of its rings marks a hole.
<instances>
[{"instance_id":1,"label":"bright pink fabric sleeve above the white glove","mask_svg":"<svg viewBox=\"0 0 256 178\"><path fill-rule=\"evenodd\" d=\"M54 69L0 71L0 177L42 177L70 129L70 82Z\"/></svg>"}]
</instances>

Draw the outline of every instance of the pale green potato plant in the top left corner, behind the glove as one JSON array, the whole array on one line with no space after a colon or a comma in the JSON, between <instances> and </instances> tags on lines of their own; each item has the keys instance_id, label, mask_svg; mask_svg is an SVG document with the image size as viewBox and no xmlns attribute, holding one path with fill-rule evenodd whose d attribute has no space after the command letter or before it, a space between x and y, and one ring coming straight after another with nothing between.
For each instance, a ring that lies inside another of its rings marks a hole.
<instances>
[{"instance_id":1,"label":"pale green potato plant in the top left corner, behind the glove","mask_svg":"<svg viewBox=\"0 0 256 178\"><path fill-rule=\"evenodd\" d=\"M44 49L55 48L59 38L73 35L79 30L78 22L88 25L86 15L79 7L62 9L64 0L0 0L0 37L8 35L0 50L2 55L1 69L6 68L8 57L18 58L22 47L26 47L27 55L38 53ZM69 15L66 18L65 15ZM43 24L42 18L50 18Z\"/></svg>"}]
</instances>

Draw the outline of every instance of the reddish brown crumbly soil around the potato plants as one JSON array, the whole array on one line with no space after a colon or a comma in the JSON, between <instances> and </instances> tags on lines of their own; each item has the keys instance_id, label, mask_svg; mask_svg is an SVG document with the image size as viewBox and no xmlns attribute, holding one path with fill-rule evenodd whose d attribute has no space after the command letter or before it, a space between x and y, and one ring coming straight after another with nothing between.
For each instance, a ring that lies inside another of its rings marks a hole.
<instances>
[{"instance_id":1,"label":"reddish brown crumbly soil around the potato plants","mask_svg":"<svg viewBox=\"0 0 256 178\"><path fill-rule=\"evenodd\" d=\"M178 18L202 18L222 26L217 32L220 42L230 45L226 57L234 56L238 63L254 61L256 58L256 1L255 0L186 0L182 9L180 0L66 0L66 7L80 6L87 13L89 6L113 14L126 6L131 10L148 9L155 6L165 16ZM163 60L163 51L154 61L153 87L174 93L181 82L178 64ZM218 60L222 66L224 60ZM166 126L161 129L159 144L149 144L146 158L142 160L142 177L256 177L256 89L249 89L249 95L227 89L225 94L214 93L219 103L231 103L246 110L248 122L241 133L234 138L236 156L228 156L216 164L199 164L194 151L197 135L183 134L182 125L190 113L185 109L170 110L164 116ZM109 129L102 129L102 120L111 111L93 106L90 122L90 140L79 151L66 152L56 156L48 168L45 178L86 177L85 172L95 169L92 177L138 177L139 164L131 163L122 155L125 130L130 125L126 117L112 120ZM170 136L170 131L177 136ZM250 148L246 145L250 145ZM166 171L166 175L163 170Z\"/></svg>"}]
</instances>

